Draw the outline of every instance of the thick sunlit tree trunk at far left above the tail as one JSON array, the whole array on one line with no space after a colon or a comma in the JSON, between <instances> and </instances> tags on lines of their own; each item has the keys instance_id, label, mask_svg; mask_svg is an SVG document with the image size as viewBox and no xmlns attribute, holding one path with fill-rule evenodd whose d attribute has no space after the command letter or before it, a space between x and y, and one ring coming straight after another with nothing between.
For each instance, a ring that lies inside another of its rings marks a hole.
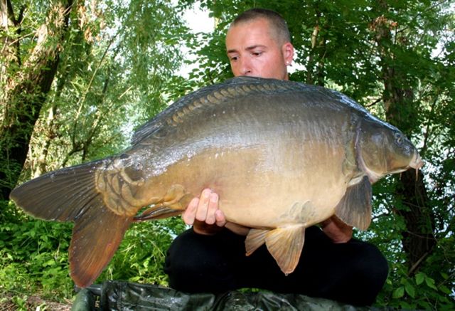
<instances>
[{"instance_id":1,"label":"thick sunlit tree trunk at far left above the tail","mask_svg":"<svg viewBox=\"0 0 455 311\"><path fill-rule=\"evenodd\" d=\"M14 8L10 0L0 1L1 38L6 46L11 46L7 31L16 23ZM24 63L17 57L20 38L14 40L16 48L5 49L6 55L2 56L6 63L1 68L4 90L0 99L3 106L0 117L0 199L9 198L26 161L33 126L57 71L72 7L73 0L57 1L50 6L48 18L36 31L36 46Z\"/></svg>"}]
</instances>

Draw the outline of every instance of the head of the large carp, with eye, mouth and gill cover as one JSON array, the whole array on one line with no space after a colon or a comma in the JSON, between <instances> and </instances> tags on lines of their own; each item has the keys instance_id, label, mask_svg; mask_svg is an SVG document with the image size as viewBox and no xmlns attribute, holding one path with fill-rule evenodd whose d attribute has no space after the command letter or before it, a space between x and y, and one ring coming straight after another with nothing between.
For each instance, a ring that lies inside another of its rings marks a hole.
<instances>
[{"instance_id":1,"label":"head of the large carp, with eye, mouth and gill cover","mask_svg":"<svg viewBox=\"0 0 455 311\"><path fill-rule=\"evenodd\" d=\"M376 119L361 122L356 148L360 166L371 182L410 168L418 170L424 164L410 139L396 127Z\"/></svg>"}]
</instances>

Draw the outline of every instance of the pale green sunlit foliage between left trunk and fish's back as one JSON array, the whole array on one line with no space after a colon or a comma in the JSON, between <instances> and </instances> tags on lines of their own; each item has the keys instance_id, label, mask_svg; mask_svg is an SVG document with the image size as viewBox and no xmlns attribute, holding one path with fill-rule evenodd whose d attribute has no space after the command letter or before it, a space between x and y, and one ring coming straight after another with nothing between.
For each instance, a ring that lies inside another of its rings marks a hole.
<instances>
[{"instance_id":1,"label":"pale green sunlit foliage between left trunk and fish's back","mask_svg":"<svg viewBox=\"0 0 455 311\"><path fill-rule=\"evenodd\" d=\"M166 107L162 90L182 60L186 27L168 1L77 8L23 179L126 148L134 127Z\"/></svg>"}]
</instances>

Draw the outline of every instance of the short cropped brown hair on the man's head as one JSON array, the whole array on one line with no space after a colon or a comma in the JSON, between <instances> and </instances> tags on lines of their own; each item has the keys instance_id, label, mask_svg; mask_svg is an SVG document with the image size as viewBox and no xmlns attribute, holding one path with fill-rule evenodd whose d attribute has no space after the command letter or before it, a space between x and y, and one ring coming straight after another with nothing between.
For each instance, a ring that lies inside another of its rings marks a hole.
<instances>
[{"instance_id":1,"label":"short cropped brown hair on the man's head","mask_svg":"<svg viewBox=\"0 0 455 311\"><path fill-rule=\"evenodd\" d=\"M268 9L249 9L238 15L234 21L232 21L230 27L235 26L238 23L254 21L255 19L267 19L270 26L272 26L272 29L276 31L278 38L281 39L283 43L291 42L291 35L289 33L289 28L287 27L287 22L277 12Z\"/></svg>"}]
</instances>

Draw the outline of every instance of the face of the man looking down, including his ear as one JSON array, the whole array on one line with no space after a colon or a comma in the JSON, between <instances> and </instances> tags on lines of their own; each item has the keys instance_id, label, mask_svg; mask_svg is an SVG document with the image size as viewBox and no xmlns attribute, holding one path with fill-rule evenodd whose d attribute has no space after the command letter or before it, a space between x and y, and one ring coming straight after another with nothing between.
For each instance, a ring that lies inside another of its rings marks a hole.
<instances>
[{"instance_id":1,"label":"face of the man looking down, including his ear","mask_svg":"<svg viewBox=\"0 0 455 311\"><path fill-rule=\"evenodd\" d=\"M288 80L287 65L294 56L291 43L281 44L266 19L239 23L226 36L232 73Z\"/></svg>"}]
</instances>

